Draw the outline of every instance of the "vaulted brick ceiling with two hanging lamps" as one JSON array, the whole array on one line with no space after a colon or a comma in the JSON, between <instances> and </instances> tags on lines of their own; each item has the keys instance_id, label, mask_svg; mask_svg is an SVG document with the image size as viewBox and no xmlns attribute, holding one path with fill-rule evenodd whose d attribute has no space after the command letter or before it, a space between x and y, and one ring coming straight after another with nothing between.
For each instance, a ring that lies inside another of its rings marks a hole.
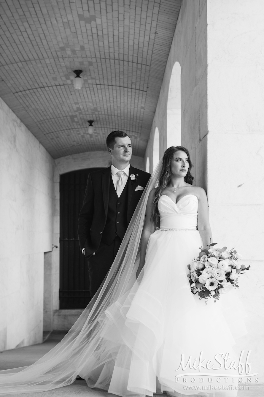
<instances>
[{"instance_id":1,"label":"vaulted brick ceiling with two hanging lamps","mask_svg":"<svg viewBox=\"0 0 264 397\"><path fill-rule=\"evenodd\" d=\"M181 2L1 0L0 96L53 158L105 150L113 129L143 156Z\"/></svg>"}]
</instances>

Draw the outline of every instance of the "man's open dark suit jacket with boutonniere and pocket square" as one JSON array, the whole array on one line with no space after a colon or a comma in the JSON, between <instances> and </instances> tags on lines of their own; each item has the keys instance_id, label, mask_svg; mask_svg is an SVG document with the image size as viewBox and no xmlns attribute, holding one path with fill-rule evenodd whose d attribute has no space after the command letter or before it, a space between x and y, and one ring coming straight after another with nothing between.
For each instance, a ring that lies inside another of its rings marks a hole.
<instances>
[{"instance_id":1,"label":"man's open dark suit jacket with boutonniere and pocket square","mask_svg":"<svg viewBox=\"0 0 264 397\"><path fill-rule=\"evenodd\" d=\"M134 168L130 164L129 175L138 174L137 180L128 177L127 223L138 205L143 190L135 191L137 186L145 189L150 174ZM89 258L100 245L103 229L107 218L111 166L103 170L91 172L88 176L84 201L78 219L78 237L80 249L85 249L85 258Z\"/></svg>"}]
</instances>

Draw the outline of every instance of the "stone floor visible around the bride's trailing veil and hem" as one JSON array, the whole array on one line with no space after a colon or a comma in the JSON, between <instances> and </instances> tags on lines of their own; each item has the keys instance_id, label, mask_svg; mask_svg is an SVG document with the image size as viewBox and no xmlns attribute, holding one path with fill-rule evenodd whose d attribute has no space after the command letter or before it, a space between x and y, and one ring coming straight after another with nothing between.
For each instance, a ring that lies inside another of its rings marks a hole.
<instances>
[{"instance_id":1,"label":"stone floor visible around the bride's trailing veil and hem","mask_svg":"<svg viewBox=\"0 0 264 397\"><path fill-rule=\"evenodd\" d=\"M44 333L43 343L0 352L0 370L31 365L50 351L65 335L65 331ZM7 395L1 395L7 397ZM90 389L82 379L75 380L70 386L60 387L41 393L13 394L20 397L107 397L107 391ZM114 395L112 395L114 396ZM189 396L191 397L191 396ZM239 390L237 397L264 397L264 384L251 384L249 390Z\"/></svg>"}]
</instances>

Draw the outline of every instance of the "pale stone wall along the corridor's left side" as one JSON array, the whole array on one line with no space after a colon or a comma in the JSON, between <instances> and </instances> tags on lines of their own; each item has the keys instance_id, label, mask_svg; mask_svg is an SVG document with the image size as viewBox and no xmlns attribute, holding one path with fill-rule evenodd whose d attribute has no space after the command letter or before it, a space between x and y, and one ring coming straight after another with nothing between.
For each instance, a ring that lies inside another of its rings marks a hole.
<instances>
[{"instance_id":1,"label":"pale stone wall along the corridor's left side","mask_svg":"<svg viewBox=\"0 0 264 397\"><path fill-rule=\"evenodd\" d=\"M42 341L54 160L0 99L0 350Z\"/></svg>"}]
</instances>

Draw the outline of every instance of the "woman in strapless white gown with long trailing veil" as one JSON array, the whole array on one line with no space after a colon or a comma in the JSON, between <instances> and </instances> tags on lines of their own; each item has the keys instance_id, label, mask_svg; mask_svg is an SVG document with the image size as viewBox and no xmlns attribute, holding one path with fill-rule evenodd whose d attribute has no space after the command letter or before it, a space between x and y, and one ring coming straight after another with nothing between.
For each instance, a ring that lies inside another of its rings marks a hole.
<instances>
[{"instance_id":1,"label":"woman in strapless white gown with long trailing veil","mask_svg":"<svg viewBox=\"0 0 264 397\"><path fill-rule=\"evenodd\" d=\"M191 168L186 148L165 151L92 301L44 357L0 372L1 393L50 390L79 375L124 397L237 395L230 363L238 361L234 335L246 332L243 310L233 291L205 305L187 278L199 247L212 241Z\"/></svg>"}]
</instances>

